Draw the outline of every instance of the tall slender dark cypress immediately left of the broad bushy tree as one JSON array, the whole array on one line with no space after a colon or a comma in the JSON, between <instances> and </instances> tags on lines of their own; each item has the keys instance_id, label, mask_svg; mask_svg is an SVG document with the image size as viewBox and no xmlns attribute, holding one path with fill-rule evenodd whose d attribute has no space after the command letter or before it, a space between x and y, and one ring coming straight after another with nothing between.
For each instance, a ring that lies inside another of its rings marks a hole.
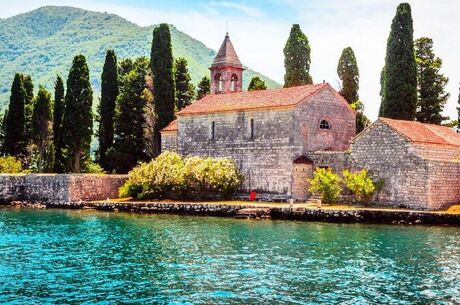
<instances>
[{"instance_id":1,"label":"tall slender dark cypress immediately left of the broad bushy tree","mask_svg":"<svg viewBox=\"0 0 460 305\"><path fill-rule=\"evenodd\" d=\"M110 171L107 150L113 144L113 119L115 102L119 93L117 57L113 50L108 50L105 56L104 68L101 75L101 103L99 105L99 150L98 159L102 168Z\"/></svg>"}]
</instances>

